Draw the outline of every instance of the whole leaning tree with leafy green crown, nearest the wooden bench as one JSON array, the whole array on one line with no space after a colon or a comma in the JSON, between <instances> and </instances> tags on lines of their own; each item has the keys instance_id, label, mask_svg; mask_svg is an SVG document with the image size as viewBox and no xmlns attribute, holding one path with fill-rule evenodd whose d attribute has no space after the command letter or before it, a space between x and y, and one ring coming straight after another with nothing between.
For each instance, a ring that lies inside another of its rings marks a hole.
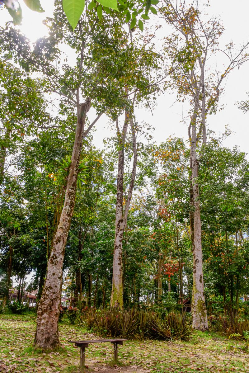
<instances>
[{"instance_id":1,"label":"whole leaning tree with leafy green crown, nearest the wooden bench","mask_svg":"<svg viewBox=\"0 0 249 373\"><path fill-rule=\"evenodd\" d=\"M119 15L108 15L105 20L100 20L93 10L89 10L82 16L72 34L61 3L56 1L55 20L48 20L53 25L50 36L38 40L34 50L30 50L29 43L21 35L18 34L13 39L13 29L1 31L1 38L8 41L14 59L26 69L45 74L47 84L44 91L58 94L61 97L60 114L66 114L76 122L72 156L67 164L64 205L37 313L35 344L41 348L53 348L59 344L58 320L64 250L75 206L82 139L107 108L113 114L115 110L119 111L120 107L124 107L127 98L124 94L124 82L120 78L126 76L130 66L130 53L126 53L124 48L126 34L122 30L122 18ZM60 70L54 61L60 59L58 45L62 41L75 51L77 57L76 66L64 63ZM99 114L86 129L86 116L91 105L97 108Z\"/></svg>"}]
</instances>

